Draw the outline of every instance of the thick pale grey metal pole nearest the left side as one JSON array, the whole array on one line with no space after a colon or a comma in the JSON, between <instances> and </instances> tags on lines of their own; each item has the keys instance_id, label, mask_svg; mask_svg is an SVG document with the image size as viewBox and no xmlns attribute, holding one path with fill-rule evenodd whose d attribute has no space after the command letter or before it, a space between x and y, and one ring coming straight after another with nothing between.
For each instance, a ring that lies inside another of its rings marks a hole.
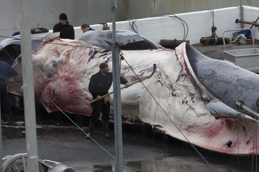
<instances>
[{"instance_id":1,"label":"thick pale grey metal pole nearest the left side","mask_svg":"<svg viewBox=\"0 0 259 172\"><path fill-rule=\"evenodd\" d=\"M23 68L23 101L25 115L27 172L39 171L36 134L33 68L31 59L29 0L20 0L20 32Z\"/></svg>"}]
</instances>

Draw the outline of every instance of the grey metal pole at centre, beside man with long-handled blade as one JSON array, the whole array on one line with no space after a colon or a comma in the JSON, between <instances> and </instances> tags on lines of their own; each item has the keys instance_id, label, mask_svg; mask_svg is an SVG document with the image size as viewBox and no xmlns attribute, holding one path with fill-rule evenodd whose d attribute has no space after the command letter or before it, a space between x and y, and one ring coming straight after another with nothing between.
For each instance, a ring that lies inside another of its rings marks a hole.
<instances>
[{"instance_id":1,"label":"grey metal pole at centre, beside man with long-handled blade","mask_svg":"<svg viewBox=\"0 0 259 172\"><path fill-rule=\"evenodd\" d=\"M114 102L114 134L115 134L115 170L123 172L122 151L122 125L121 125L121 100L120 100L120 63L119 47L116 45L115 8L112 7L112 80Z\"/></svg>"}]
</instances>

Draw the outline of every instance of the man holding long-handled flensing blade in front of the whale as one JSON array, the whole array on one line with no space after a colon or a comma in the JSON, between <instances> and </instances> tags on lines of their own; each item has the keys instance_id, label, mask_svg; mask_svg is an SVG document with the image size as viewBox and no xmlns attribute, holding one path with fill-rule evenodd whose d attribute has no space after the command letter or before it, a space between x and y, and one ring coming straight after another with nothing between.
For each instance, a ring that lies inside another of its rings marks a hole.
<instances>
[{"instance_id":1,"label":"man holding long-handled flensing blade in front of the whale","mask_svg":"<svg viewBox=\"0 0 259 172\"><path fill-rule=\"evenodd\" d=\"M100 113L102 113L102 120L104 124L104 137L111 138L108 134L110 101L109 99L104 100L105 98L101 98L101 96L107 94L112 86L112 72L109 72L109 66L107 63L101 63L99 68L100 71L91 76L88 86L89 92L92 94L93 99L97 99L97 101L91 103L93 112L90 116L89 131L86 138L90 138L92 136L95 123L100 117ZM120 84L125 84L126 87L130 86L130 83L128 83L128 81L123 77L120 77Z\"/></svg>"}]
</instances>

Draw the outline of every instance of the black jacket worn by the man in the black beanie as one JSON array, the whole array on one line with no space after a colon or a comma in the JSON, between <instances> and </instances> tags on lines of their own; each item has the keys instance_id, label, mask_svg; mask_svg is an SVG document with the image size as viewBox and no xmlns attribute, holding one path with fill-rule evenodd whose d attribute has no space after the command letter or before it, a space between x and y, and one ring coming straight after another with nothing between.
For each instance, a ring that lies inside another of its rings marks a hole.
<instances>
[{"instance_id":1,"label":"black jacket worn by the man in the black beanie","mask_svg":"<svg viewBox=\"0 0 259 172\"><path fill-rule=\"evenodd\" d=\"M62 25L60 22L53 27L53 33L60 32L59 38L62 39L75 39L75 31L72 25L66 21L66 25Z\"/></svg>"}]
</instances>

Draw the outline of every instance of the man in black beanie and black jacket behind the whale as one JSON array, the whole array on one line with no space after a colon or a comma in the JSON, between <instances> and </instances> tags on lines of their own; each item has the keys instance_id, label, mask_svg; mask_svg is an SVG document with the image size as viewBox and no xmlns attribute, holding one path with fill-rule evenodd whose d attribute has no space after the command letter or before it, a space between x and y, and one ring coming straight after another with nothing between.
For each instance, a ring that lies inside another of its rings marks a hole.
<instances>
[{"instance_id":1,"label":"man in black beanie and black jacket behind the whale","mask_svg":"<svg viewBox=\"0 0 259 172\"><path fill-rule=\"evenodd\" d=\"M65 13L59 15L59 23L53 27L53 33L60 32L59 38L75 39L75 31L72 25L69 25Z\"/></svg>"}]
</instances>

